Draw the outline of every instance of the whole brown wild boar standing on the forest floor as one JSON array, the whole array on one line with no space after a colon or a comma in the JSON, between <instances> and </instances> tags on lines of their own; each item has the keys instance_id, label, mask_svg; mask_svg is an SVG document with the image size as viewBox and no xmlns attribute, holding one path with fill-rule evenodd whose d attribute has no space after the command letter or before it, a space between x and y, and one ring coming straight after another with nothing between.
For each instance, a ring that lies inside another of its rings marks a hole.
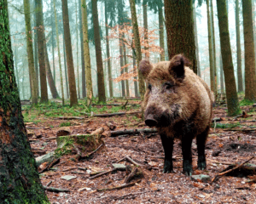
<instances>
[{"instance_id":1,"label":"whole brown wild boar standing on the forest floor","mask_svg":"<svg viewBox=\"0 0 256 204\"><path fill-rule=\"evenodd\" d=\"M144 96L144 120L157 127L165 152L164 173L173 172L173 139L181 139L183 173L192 175L191 144L196 138L201 170L207 167L205 146L212 118L212 94L201 77L189 69L189 59L183 54L171 61L151 65L142 60L140 71L148 83Z\"/></svg>"}]
</instances>

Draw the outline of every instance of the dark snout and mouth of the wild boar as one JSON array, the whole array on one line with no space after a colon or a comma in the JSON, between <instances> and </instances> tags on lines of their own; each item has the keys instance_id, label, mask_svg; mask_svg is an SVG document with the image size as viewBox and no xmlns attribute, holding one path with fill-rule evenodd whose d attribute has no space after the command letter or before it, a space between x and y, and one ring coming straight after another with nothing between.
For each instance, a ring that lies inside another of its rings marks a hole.
<instances>
[{"instance_id":1,"label":"dark snout and mouth of the wild boar","mask_svg":"<svg viewBox=\"0 0 256 204\"><path fill-rule=\"evenodd\" d=\"M162 111L151 105L145 111L145 123L149 127L172 126L179 118L179 105L172 105L171 110Z\"/></svg>"}]
</instances>

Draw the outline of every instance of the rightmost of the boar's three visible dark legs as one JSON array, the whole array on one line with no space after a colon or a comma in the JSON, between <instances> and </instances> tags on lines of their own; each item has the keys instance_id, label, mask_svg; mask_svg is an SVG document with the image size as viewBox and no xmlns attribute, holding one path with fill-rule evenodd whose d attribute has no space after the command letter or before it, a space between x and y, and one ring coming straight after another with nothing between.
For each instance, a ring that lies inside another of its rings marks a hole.
<instances>
[{"instance_id":1,"label":"rightmost of the boar's three visible dark legs","mask_svg":"<svg viewBox=\"0 0 256 204\"><path fill-rule=\"evenodd\" d=\"M197 154L198 154L197 167L200 170L204 170L207 167L205 149L206 149L208 132L209 132L209 126L206 128L206 130L203 133L197 135L196 137Z\"/></svg>"}]
</instances>

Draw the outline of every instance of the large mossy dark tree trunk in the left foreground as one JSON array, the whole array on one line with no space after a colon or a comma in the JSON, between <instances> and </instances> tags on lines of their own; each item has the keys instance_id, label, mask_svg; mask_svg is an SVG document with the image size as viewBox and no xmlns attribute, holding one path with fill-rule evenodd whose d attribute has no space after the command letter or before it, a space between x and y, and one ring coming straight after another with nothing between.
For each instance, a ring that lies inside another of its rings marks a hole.
<instances>
[{"instance_id":1,"label":"large mossy dark tree trunk in the left foreground","mask_svg":"<svg viewBox=\"0 0 256 204\"><path fill-rule=\"evenodd\" d=\"M0 1L0 12L0 48L3 59L0 66L0 201L49 203L40 182L21 114L6 0Z\"/></svg>"}]
</instances>

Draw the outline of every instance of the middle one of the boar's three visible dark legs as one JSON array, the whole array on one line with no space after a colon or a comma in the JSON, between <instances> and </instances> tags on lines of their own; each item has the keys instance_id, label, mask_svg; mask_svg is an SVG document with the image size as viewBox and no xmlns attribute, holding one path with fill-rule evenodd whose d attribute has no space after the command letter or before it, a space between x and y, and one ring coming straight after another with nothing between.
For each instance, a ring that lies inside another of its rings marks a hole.
<instances>
[{"instance_id":1,"label":"middle one of the boar's three visible dark legs","mask_svg":"<svg viewBox=\"0 0 256 204\"><path fill-rule=\"evenodd\" d=\"M183 136L182 138L182 150L183 150L183 173L187 176L191 176L192 169L192 154L191 154L191 135Z\"/></svg>"}]
</instances>

